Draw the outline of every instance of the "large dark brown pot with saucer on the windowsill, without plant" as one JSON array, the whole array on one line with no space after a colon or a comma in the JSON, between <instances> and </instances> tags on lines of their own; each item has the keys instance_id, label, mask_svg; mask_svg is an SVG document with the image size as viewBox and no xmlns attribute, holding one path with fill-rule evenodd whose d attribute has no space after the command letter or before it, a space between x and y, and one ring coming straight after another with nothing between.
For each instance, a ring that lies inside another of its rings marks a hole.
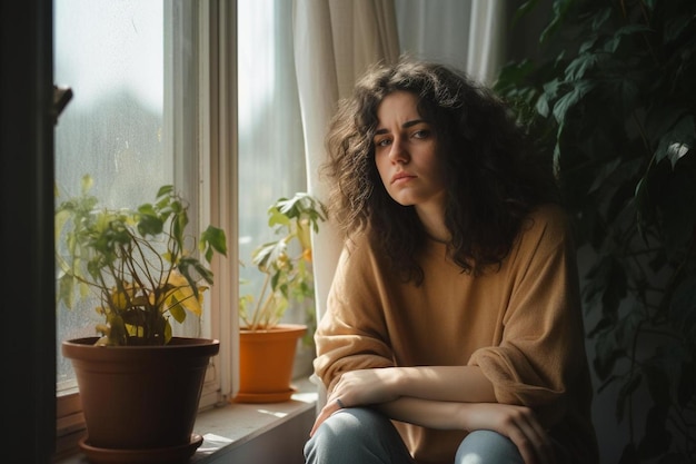
<instances>
[{"instance_id":1,"label":"large dark brown pot with saucer on the windowsill, without plant","mask_svg":"<svg viewBox=\"0 0 696 464\"><path fill-rule=\"evenodd\" d=\"M186 461L202 443L195 435L198 403L215 339L175 337L166 346L93 346L97 337L62 343L77 376L90 461ZM121 456L121 457L119 457Z\"/></svg>"}]
</instances>

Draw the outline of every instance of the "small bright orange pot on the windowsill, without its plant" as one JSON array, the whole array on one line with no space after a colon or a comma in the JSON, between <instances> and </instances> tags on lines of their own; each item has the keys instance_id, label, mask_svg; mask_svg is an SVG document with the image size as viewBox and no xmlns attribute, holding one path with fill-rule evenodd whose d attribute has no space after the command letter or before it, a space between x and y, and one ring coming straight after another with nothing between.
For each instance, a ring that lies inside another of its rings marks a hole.
<instances>
[{"instance_id":1,"label":"small bright orange pot on the windowsill, without its plant","mask_svg":"<svg viewBox=\"0 0 696 464\"><path fill-rule=\"evenodd\" d=\"M299 324L279 324L267 330L239 334L238 403L279 403L290 399L298 339L307 332Z\"/></svg>"}]
</instances>

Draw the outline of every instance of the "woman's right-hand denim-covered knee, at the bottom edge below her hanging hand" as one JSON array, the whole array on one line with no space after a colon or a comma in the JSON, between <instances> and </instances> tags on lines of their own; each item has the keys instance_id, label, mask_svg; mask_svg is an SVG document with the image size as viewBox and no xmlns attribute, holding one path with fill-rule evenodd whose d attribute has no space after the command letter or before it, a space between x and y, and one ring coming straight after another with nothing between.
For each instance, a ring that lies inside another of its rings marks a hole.
<instances>
[{"instance_id":1,"label":"woman's right-hand denim-covered knee, at the bottom edge below her hanging hand","mask_svg":"<svg viewBox=\"0 0 696 464\"><path fill-rule=\"evenodd\" d=\"M459 445L455 464L523 464L517 446L493 431L474 431Z\"/></svg>"}]
</instances>

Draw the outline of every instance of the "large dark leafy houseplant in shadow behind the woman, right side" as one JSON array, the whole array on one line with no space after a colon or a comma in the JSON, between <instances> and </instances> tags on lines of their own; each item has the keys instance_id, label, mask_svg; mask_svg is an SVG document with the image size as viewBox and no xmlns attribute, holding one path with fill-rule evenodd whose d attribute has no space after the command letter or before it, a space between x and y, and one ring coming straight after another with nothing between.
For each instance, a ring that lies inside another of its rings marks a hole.
<instances>
[{"instance_id":1,"label":"large dark leafy houseplant in shadow behind the woman, right side","mask_svg":"<svg viewBox=\"0 0 696 464\"><path fill-rule=\"evenodd\" d=\"M553 156L589 263L619 463L695 463L696 2L528 1L515 20L541 8L539 59L509 63L496 90Z\"/></svg>"}]
</instances>

